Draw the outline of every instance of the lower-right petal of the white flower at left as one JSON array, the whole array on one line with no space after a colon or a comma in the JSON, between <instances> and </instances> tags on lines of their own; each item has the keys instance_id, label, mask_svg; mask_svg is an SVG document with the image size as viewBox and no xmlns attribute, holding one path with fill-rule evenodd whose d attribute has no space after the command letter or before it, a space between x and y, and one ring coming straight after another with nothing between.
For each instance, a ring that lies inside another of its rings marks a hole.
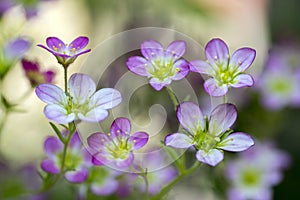
<instances>
[{"instance_id":1,"label":"lower-right petal of the white flower at left","mask_svg":"<svg viewBox=\"0 0 300 200\"><path fill-rule=\"evenodd\" d=\"M102 108L96 107L91 109L89 112L83 114L78 113L78 118L85 122L100 122L106 119L108 116L108 111Z\"/></svg>"}]
</instances>

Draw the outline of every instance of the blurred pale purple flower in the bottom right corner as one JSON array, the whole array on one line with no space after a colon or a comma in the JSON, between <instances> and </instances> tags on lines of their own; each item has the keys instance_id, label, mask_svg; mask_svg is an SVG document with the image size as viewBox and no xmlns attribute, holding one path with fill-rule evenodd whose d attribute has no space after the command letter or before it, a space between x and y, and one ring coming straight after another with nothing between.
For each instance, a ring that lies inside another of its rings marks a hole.
<instances>
[{"instance_id":1,"label":"blurred pale purple flower in the bottom right corner","mask_svg":"<svg viewBox=\"0 0 300 200\"><path fill-rule=\"evenodd\" d=\"M272 187L282 179L282 170L289 165L289 156L270 143L256 143L226 166L232 185L229 200L271 200Z\"/></svg>"}]
</instances>

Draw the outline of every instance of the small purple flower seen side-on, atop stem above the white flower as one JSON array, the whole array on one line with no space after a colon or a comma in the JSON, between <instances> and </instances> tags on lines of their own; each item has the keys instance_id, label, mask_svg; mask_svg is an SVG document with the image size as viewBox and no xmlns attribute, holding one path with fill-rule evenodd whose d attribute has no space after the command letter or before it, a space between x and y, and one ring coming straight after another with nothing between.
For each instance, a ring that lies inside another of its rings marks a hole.
<instances>
[{"instance_id":1,"label":"small purple flower seen side-on, atop stem above the white flower","mask_svg":"<svg viewBox=\"0 0 300 200\"><path fill-rule=\"evenodd\" d=\"M81 54L91 51L91 49L84 50L89 43L89 38L84 36L76 38L69 45L65 44L57 37L48 37L46 43L48 47L41 44L38 46L52 53L56 57L58 63L65 68L73 63Z\"/></svg>"}]
</instances>

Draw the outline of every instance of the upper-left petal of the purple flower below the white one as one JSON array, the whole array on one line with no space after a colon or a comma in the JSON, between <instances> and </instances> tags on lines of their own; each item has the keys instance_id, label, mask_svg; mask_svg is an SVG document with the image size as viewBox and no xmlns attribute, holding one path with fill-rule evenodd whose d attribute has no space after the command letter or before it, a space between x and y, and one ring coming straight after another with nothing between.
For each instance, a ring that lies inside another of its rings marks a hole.
<instances>
[{"instance_id":1,"label":"upper-left petal of the purple flower below the white one","mask_svg":"<svg viewBox=\"0 0 300 200\"><path fill-rule=\"evenodd\" d=\"M110 143L110 138L105 133L93 133L87 138L87 143L90 148L99 151L100 149L103 149L103 147Z\"/></svg>"}]
</instances>

